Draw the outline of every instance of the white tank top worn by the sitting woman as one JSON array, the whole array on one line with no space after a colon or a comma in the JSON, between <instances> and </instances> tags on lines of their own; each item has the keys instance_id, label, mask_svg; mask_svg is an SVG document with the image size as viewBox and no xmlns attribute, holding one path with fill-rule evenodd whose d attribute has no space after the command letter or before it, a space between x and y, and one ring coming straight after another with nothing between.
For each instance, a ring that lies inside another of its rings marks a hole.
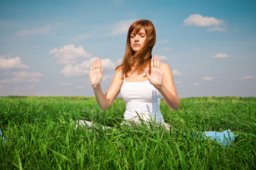
<instances>
[{"instance_id":1,"label":"white tank top worn by the sitting woman","mask_svg":"<svg viewBox=\"0 0 256 170\"><path fill-rule=\"evenodd\" d=\"M120 94L126 103L124 119L139 123L139 115L146 121L156 120L157 123L164 123L160 111L161 94L148 80L129 82L124 78Z\"/></svg>"}]
</instances>

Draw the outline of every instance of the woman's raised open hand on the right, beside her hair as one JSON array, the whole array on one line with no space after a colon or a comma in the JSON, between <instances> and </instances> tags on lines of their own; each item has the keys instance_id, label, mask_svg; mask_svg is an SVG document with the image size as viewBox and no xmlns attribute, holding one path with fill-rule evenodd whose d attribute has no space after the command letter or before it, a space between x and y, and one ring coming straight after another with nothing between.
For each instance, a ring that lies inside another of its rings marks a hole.
<instances>
[{"instance_id":1,"label":"woman's raised open hand on the right, beside her hair","mask_svg":"<svg viewBox=\"0 0 256 170\"><path fill-rule=\"evenodd\" d=\"M161 62L156 55L151 58L151 74L149 74L149 69L144 69L146 77L149 82L154 86L161 86L163 84L164 72L162 70Z\"/></svg>"}]
</instances>

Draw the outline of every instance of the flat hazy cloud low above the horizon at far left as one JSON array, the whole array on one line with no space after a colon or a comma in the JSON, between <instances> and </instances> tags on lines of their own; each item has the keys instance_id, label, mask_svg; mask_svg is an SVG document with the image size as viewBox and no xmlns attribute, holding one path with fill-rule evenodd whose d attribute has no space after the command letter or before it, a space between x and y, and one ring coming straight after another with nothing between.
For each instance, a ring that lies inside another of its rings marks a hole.
<instances>
[{"instance_id":1,"label":"flat hazy cloud low above the horizon at far left","mask_svg":"<svg viewBox=\"0 0 256 170\"><path fill-rule=\"evenodd\" d=\"M3 83L3 84L20 83L20 82L38 83L39 81L41 81L40 77L43 76L43 74L39 72L36 72L36 73L14 72L13 75L15 76L14 78L1 80L0 83Z\"/></svg>"}]
</instances>

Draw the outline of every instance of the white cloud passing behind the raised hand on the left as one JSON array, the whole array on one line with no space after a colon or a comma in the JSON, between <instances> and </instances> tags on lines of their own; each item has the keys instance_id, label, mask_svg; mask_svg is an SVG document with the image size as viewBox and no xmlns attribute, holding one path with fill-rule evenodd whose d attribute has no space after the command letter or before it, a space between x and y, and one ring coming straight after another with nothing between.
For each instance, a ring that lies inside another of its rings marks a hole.
<instances>
[{"instance_id":1,"label":"white cloud passing behind the raised hand on the left","mask_svg":"<svg viewBox=\"0 0 256 170\"><path fill-rule=\"evenodd\" d=\"M76 64L75 66L68 64L64 67L63 70L61 70L60 73L64 74L65 77L75 77L89 74L90 67L96 59L97 57L93 57L90 60L85 60L81 64ZM102 59L102 68L114 69L114 67L115 65L110 59Z\"/></svg>"}]
</instances>

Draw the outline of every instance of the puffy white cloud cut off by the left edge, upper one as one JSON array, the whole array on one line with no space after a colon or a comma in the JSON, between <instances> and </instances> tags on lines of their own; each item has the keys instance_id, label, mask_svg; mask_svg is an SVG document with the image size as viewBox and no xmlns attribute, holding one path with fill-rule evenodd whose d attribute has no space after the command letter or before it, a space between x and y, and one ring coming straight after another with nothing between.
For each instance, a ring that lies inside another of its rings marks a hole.
<instances>
[{"instance_id":1,"label":"puffy white cloud cut off by the left edge, upper one","mask_svg":"<svg viewBox=\"0 0 256 170\"><path fill-rule=\"evenodd\" d=\"M20 57L7 58L0 56L0 69L28 69L29 66L21 62Z\"/></svg>"}]
</instances>

